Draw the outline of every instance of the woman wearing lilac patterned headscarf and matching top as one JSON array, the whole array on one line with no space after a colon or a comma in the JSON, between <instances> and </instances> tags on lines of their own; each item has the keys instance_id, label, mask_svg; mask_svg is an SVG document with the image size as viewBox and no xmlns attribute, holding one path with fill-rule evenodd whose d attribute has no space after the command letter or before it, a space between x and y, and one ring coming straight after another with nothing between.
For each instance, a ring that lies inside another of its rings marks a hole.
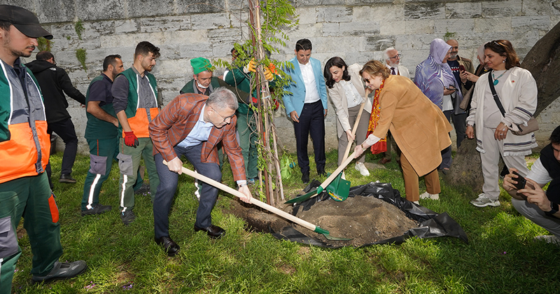
<instances>
[{"instance_id":1,"label":"woman wearing lilac patterned headscarf and matching top","mask_svg":"<svg viewBox=\"0 0 560 294\"><path fill-rule=\"evenodd\" d=\"M414 76L414 83L442 111L454 109L451 94L454 94L458 101L463 99L463 94L458 90L461 89L461 84L455 80L447 64L450 52L451 45L440 38L435 38L430 43L430 55L416 66ZM439 169L447 174L449 167L451 167L451 146L442 151L442 165Z\"/></svg>"}]
</instances>

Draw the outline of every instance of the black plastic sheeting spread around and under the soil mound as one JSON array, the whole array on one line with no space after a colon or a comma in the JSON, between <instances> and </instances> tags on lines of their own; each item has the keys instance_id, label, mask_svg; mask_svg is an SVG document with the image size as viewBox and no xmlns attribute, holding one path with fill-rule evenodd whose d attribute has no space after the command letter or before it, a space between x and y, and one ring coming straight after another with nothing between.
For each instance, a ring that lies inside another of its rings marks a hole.
<instances>
[{"instance_id":1,"label":"black plastic sheeting spread around and under the soil mound","mask_svg":"<svg viewBox=\"0 0 560 294\"><path fill-rule=\"evenodd\" d=\"M318 181L311 183L305 190L313 189L313 186L318 187ZM318 183L321 184L321 183ZM468 238L461 225L459 225L449 214L446 212L437 214L426 207L417 206L409 202L405 198L400 197L398 190L393 189L391 183L368 183L363 186L355 186L350 188L349 197L376 197L377 199L384 200L385 202L393 204L398 207L405 215L421 223L418 228L413 228L405 232L403 235L385 239L370 244L363 244L363 246L371 246L374 244L401 244L410 237L418 238L435 238L435 237L456 237L468 244ZM318 201L334 201L331 200L328 194L323 191L320 195L313 197L305 202L295 204L292 214L297 216L300 209L307 211L313 207ZM311 222L312 223L312 222ZM271 231L272 232L272 231ZM331 246L325 244L323 241L313 239L302 232L295 230L295 228L288 226L281 229L279 232L272 232L276 239L283 239L294 241L302 244L309 244L314 246L321 246L326 248L341 248L343 246Z\"/></svg>"}]
</instances>

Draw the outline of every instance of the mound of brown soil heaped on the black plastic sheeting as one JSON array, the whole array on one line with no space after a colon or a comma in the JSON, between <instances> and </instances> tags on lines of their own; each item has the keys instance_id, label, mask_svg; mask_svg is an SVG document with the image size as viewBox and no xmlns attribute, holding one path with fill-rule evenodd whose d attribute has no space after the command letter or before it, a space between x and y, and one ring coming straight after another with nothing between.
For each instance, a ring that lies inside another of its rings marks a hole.
<instances>
[{"instance_id":1,"label":"mound of brown soil heaped on the black plastic sheeting","mask_svg":"<svg viewBox=\"0 0 560 294\"><path fill-rule=\"evenodd\" d=\"M419 225L393 204L363 196L349 197L342 202L330 199L317 202L308 211L298 211L296 216L328 230L331 237L352 238L349 241L331 241L322 234L294 225L304 235L332 246L371 244L398 237Z\"/></svg>"}]
</instances>

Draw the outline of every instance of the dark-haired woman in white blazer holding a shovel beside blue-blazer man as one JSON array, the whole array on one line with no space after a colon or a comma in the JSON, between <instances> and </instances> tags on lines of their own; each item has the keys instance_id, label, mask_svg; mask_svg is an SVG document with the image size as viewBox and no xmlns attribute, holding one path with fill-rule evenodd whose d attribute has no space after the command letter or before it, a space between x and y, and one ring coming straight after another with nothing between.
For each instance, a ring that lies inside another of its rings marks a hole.
<instances>
[{"instance_id":1,"label":"dark-haired woman in white blazer holding a shovel beside blue-blazer man","mask_svg":"<svg viewBox=\"0 0 560 294\"><path fill-rule=\"evenodd\" d=\"M365 140L367 125L370 121L372 103L365 95L365 87L360 77L359 64L347 66L340 57L332 57L325 64L323 76L327 85L328 94L335 106L337 113L337 137L338 137L338 165L342 163L346 146L354 140L361 142ZM358 118L360 106L365 102L364 112L358 123L356 135L352 135L352 128ZM369 176L370 172L363 165L365 156L358 158L356 169L363 176Z\"/></svg>"}]
</instances>

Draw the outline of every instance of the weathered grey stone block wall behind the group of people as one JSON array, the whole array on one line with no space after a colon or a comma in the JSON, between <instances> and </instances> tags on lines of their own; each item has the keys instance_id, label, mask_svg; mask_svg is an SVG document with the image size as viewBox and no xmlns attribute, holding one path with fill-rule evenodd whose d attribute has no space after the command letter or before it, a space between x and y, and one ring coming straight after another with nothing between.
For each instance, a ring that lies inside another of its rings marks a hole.
<instances>
[{"instance_id":1,"label":"weathered grey stone block wall behind the group of people","mask_svg":"<svg viewBox=\"0 0 560 294\"><path fill-rule=\"evenodd\" d=\"M123 55L125 67L132 64L139 41L150 41L161 49L153 73L158 78L164 104L192 78L190 59L229 60L232 43L248 38L246 0L1 0L34 11L45 28L52 32L52 52L57 63L69 72L71 80L85 93L90 80L102 68L106 55ZM300 24L286 31L290 37L286 48L272 57L293 57L299 38L309 38L313 57L326 62L340 56L348 64L363 64L381 59L389 46L403 55L401 64L412 75L416 64L428 56L433 38L454 34L460 45L459 55L475 59L476 48L496 38L512 41L523 57L540 37L560 21L560 3L552 0L505 1L414 1L414 0L295 0ZM85 31L81 39L75 23L81 21ZM87 52L85 71L75 51ZM34 56L26 62L34 59ZM477 64L477 62L475 62ZM217 69L221 75L223 69ZM71 101L70 113L80 137L80 151L87 153L83 139L85 112ZM327 125L327 148L337 148L335 111L330 104ZM542 145L552 129L560 124L557 100L539 120L538 140ZM279 113L283 113L280 111ZM276 118L281 144L295 150L293 127L285 115ZM62 143L62 142L61 142ZM62 144L59 144L62 145ZM311 150L311 148L309 149Z\"/></svg>"}]
</instances>

